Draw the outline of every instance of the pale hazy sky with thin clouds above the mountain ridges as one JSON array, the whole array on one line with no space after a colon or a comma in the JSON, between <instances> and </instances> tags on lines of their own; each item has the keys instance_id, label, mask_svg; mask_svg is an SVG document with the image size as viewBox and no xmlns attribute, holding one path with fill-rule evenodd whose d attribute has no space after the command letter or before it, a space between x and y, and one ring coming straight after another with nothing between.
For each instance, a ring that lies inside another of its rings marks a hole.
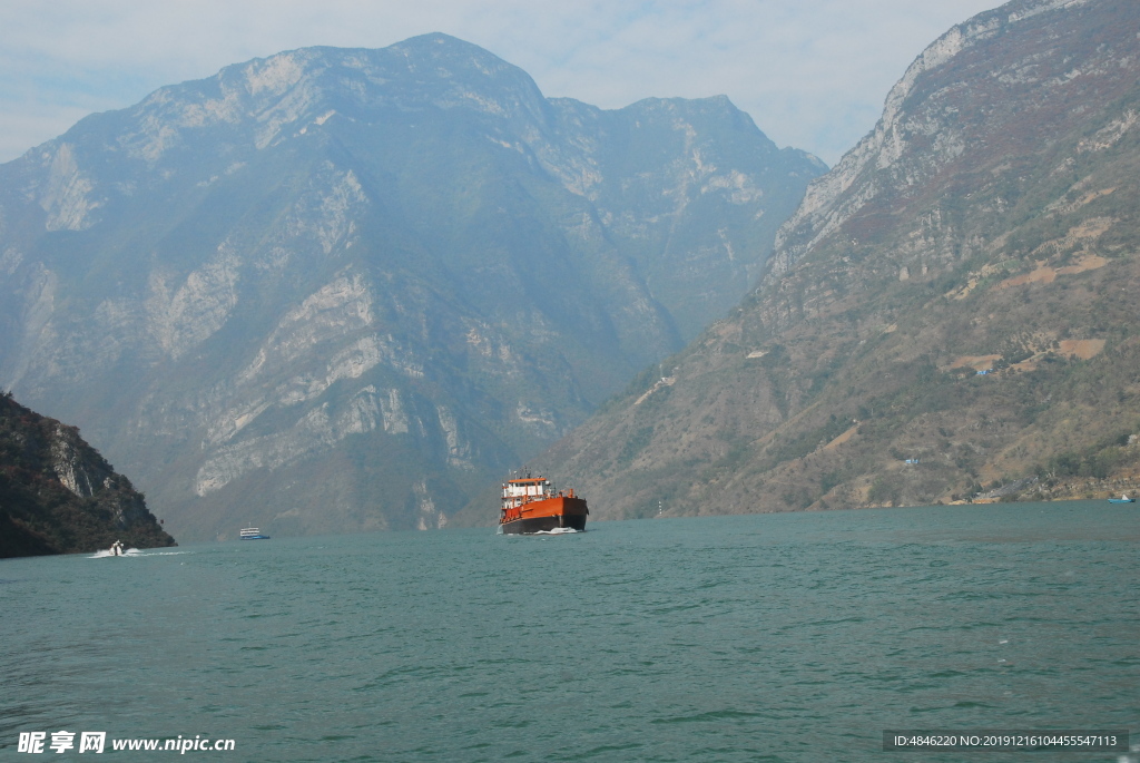
<instances>
[{"instance_id":1,"label":"pale hazy sky with thin clouds above the mountain ridges","mask_svg":"<svg viewBox=\"0 0 1140 763\"><path fill-rule=\"evenodd\" d=\"M618 108L727 95L780 146L833 164L923 48L995 0L0 0L0 162L82 116L282 50L426 32Z\"/></svg>"}]
</instances>

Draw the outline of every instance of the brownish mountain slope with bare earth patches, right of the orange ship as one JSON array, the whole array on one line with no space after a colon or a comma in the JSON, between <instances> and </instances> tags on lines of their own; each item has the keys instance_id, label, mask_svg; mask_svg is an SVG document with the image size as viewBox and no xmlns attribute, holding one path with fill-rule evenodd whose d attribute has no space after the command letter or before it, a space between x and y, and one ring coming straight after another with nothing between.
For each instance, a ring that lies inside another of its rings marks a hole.
<instances>
[{"instance_id":1,"label":"brownish mountain slope with bare earth patches, right of the orange ship","mask_svg":"<svg viewBox=\"0 0 1140 763\"><path fill-rule=\"evenodd\" d=\"M1140 485L1140 15L1016 0L906 71L758 287L534 462L598 518Z\"/></svg>"}]
</instances>

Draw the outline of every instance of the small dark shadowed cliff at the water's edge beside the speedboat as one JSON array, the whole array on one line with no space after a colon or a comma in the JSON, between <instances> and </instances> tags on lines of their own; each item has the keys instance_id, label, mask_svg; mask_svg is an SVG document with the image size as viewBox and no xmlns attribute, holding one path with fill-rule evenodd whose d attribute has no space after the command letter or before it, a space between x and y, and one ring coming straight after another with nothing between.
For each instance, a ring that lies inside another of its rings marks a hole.
<instances>
[{"instance_id":1,"label":"small dark shadowed cliff at the water's edge beside the speedboat","mask_svg":"<svg viewBox=\"0 0 1140 763\"><path fill-rule=\"evenodd\" d=\"M0 558L174 545L74 427L0 396Z\"/></svg>"}]
</instances>

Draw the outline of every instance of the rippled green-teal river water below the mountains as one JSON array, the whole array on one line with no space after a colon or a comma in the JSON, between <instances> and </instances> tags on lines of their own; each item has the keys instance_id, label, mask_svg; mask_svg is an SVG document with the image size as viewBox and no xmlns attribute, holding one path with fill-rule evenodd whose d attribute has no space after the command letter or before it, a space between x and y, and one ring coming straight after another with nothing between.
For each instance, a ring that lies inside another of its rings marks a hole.
<instances>
[{"instance_id":1,"label":"rippled green-teal river water below the mountains","mask_svg":"<svg viewBox=\"0 0 1140 763\"><path fill-rule=\"evenodd\" d=\"M21 732L225 761L1132 761L1140 509L994 504L0 561ZM263 528L271 533L272 528ZM1131 753L882 752L1126 729ZM101 760L101 758L95 758Z\"/></svg>"}]
</instances>

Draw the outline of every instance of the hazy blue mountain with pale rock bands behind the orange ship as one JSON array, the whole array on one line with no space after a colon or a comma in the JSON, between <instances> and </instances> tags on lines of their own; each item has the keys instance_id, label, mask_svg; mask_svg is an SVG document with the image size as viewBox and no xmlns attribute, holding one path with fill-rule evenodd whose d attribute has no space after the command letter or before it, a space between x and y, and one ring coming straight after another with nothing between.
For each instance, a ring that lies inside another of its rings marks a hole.
<instances>
[{"instance_id":1,"label":"hazy blue mountain with pale rock bands behind the orange ship","mask_svg":"<svg viewBox=\"0 0 1140 763\"><path fill-rule=\"evenodd\" d=\"M0 382L186 539L440 527L722 317L825 169L441 34L283 52L0 167Z\"/></svg>"}]
</instances>

